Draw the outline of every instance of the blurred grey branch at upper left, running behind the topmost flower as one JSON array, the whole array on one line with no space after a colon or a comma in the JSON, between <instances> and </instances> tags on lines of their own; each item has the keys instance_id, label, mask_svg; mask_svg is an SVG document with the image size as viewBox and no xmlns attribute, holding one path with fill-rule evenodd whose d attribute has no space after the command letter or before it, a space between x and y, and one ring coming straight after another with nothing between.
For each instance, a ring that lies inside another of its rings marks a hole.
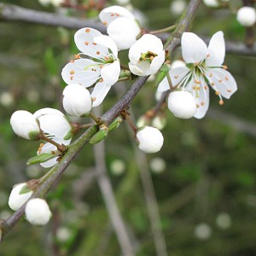
<instances>
[{"instance_id":1,"label":"blurred grey branch at upper left, running behind the topmost flower","mask_svg":"<svg viewBox=\"0 0 256 256\"><path fill-rule=\"evenodd\" d=\"M26 21L47 26L63 26L70 29L79 29L85 26L93 27L99 32L106 33L106 26L95 20L84 20L42 11L26 9L14 4L0 3L0 20Z\"/></svg>"}]
</instances>

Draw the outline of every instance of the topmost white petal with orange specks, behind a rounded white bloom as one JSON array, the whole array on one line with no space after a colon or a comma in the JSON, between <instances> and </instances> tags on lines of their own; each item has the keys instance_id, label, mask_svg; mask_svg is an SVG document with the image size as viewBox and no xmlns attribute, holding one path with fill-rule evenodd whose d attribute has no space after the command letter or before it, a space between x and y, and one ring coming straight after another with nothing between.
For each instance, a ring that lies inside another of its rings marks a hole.
<instances>
[{"instance_id":1,"label":"topmost white petal with orange specks, behind a rounded white bloom","mask_svg":"<svg viewBox=\"0 0 256 256\"><path fill-rule=\"evenodd\" d=\"M118 19L119 17L127 17L134 19L134 16L124 7L113 5L111 7L102 9L99 18L102 20L103 24L108 26L109 23L113 20Z\"/></svg>"}]
</instances>

